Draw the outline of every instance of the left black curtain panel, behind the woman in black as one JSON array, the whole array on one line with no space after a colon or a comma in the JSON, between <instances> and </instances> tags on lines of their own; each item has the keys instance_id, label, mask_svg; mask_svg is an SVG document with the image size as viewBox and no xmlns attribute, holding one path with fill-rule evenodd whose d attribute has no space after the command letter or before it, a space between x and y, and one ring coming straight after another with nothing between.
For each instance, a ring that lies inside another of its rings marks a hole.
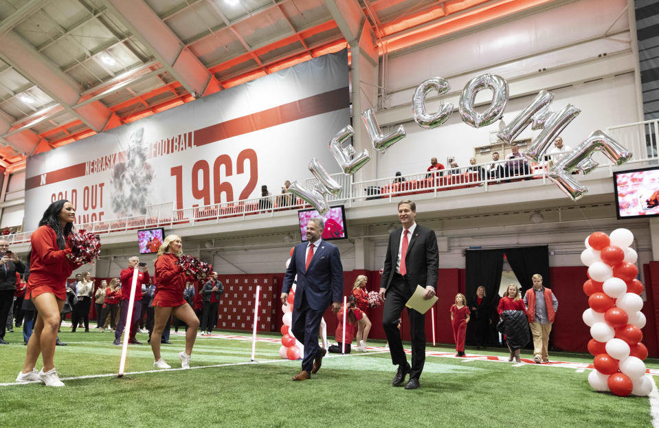
<instances>
[{"instance_id":1,"label":"left black curtain panel, behind the woman in black","mask_svg":"<svg viewBox=\"0 0 659 428\"><path fill-rule=\"evenodd\" d=\"M485 302L493 315L496 313L496 306L499 303L499 286L501 284L501 272L504 266L503 249L483 249L467 250L467 269L465 275L465 297L467 304L475 306L476 289L479 286L485 287ZM495 317L493 316L493 322ZM490 337L487 343L495 343L495 330L491 328ZM473 345L476 343L476 323L467 324L466 343Z\"/></svg>"}]
</instances>

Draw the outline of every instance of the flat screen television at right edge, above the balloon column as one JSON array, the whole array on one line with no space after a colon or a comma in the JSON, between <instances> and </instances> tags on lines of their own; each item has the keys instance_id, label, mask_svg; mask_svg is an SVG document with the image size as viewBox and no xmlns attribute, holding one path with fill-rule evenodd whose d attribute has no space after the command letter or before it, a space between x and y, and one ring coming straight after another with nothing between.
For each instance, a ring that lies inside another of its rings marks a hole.
<instances>
[{"instance_id":1,"label":"flat screen television at right edge, above the balloon column","mask_svg":"<svg viewBox=\"0 0 659 428\"><path fill-rule=\"evenodd\" d=\"M659 215L659 166L614 172L613 183L618 219Z\"/></svg>"}]
</instances>

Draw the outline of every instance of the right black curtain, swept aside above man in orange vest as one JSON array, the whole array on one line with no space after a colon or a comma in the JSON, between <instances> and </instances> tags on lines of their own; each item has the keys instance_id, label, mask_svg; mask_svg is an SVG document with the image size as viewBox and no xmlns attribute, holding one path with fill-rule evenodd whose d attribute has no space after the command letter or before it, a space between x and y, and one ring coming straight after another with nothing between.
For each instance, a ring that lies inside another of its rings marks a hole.
<instances>
[{"instance_id":1,"label":"right black curtain, swept aside above man in orange vest","mask_svg":"<svg viewBox=\"0 0 659 428\"><path fill-rule=\"evenodd\" d=\"M535 273L542 275L542 284L548 286L549 282L549 247L518 247L503 249L508 258L508 263L513 273L522 285L522 297L524 292L533 286L531 277Z\"/></svg>"}]
</instances>

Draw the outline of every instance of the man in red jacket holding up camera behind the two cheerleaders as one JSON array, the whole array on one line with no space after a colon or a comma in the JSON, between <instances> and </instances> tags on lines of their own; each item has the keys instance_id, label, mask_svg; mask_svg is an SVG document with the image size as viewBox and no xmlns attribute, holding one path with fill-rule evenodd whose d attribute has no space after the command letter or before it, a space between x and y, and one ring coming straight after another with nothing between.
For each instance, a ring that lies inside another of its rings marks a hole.
<instances>
[{"instance_id":1,"label":"man in red jacket holding up camera behind the two cheerleaders","mask_svg":"<svg viewBox=\"0 0 659 428\"><path fill-rule=\"evenodd\" d=\"M133 286L133 272L135 267L137 267L137 282L135 283L135 301L133 302L133 317L131 318L131 333L128 343L133 343L135 345L142 345L141 342L135 339L135 334L137 333L137 324L139 322L139 315L142 313L142 284L148 284L149 275L146 268L146 263L140 263L139 258L133 256L128 259L128 266L126 269L123 269L119 275L121 280L121 303L120 303L120 313L119 313L119 322L117 324L117 330L114 334L114 345L121 345L121 335L124 333L124 327L126 326L126 318L128 317L128 305L129 299L131 297L131 288Z\"/></svg>"}]
</instances>

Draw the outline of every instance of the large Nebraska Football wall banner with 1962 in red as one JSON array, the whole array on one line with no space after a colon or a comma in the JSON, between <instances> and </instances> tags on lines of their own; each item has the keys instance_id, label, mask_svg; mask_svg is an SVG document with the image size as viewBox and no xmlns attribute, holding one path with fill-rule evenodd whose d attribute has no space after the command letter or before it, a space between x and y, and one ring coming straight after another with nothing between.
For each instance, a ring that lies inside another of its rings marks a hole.
<instances>
[{"instance_id":1,"label":"large Nebraska Football wall banner with 1962 in red","mask_svg":"<svg viewBox=\"0 0 659 428\"><path fill-rule=\"evenodd\" d=\"M350 123L348 54L314 58L244 85L27 159L25 228L53 201L77 223L280 192L316 157L340 172L328 144Z\"/></svg>"}]
</instances>

